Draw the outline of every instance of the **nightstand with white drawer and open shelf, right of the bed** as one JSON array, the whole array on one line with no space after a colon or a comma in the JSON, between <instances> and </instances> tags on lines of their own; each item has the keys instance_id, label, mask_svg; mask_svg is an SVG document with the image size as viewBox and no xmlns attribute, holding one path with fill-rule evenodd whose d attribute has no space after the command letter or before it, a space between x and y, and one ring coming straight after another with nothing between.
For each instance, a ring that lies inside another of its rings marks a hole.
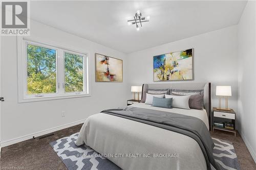
<instances>
[{"instance_id":1,"label":"nightstand with white drawer and open shelf, right of the bed","mask_svg":"<svg viewBox=\"0 0 256 170\"><path fill-rule=\"evenodd\" d=\"M213 128L212 131L214 132L215 129L228 131L234 133L236 136L236 127L235 127L235 120L236 120L236 112L231 109L230 111L226 110L219 110L214 107L214 118L213 118Z\"/></svg>"}]
</instances>

